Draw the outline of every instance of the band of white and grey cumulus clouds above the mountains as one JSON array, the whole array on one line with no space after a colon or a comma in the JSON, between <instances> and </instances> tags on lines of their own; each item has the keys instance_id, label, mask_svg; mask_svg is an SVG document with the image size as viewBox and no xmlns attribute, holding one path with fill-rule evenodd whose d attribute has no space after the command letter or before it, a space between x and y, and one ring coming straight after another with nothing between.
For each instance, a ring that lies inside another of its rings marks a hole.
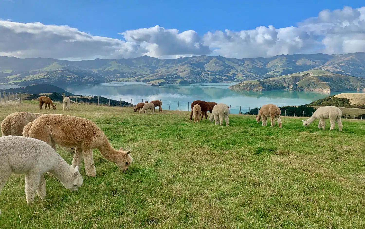
<instances>
[{"instance_id":1,"label":"band of white and grey cumulus clouds above the mountains","mask_svg":"<svg viewBox=\"0 0 365 229\"><path fill-rule=\"evenodd\" d=\"M229 25L227 25L229 26ZM296 26L242 31L178 31L155 26L119 33L120 39L76 28L0 19L0 55L56 59L178 58L222 55L248 58L297 53L365 52L365 7L323 10Z\"/></svg>"}]
</instances>

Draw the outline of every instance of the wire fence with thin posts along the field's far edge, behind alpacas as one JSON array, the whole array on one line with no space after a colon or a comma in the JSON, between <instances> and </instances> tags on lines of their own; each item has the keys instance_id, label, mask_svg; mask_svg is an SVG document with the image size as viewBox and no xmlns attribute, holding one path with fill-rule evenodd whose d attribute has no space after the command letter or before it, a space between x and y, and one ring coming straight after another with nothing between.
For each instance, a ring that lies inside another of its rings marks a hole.
<instances>
[{"instance_id":1,"label":"wire fence with thin posts along the field's far edge, behind alpacas","mask_svg":"<svg viewBox=\"0 0 365 229\"><path fill-rule=\"evenodd\" d=\"M73 96L73 100L76 100L76 102L80 102L80 98L83 98L83 103L85 103L84 97L77 97ZM93 97L89 97L93 98ZM99 100L99 97L97 96L98 103L95 102L89 102L86 101L87 104L93 104L93 105L99 105L99 106L135 106L138 103L142 102L145 103L151 102L151 99L134 99L134 98L115 98L115 97L109 97L107 101L101 101ZM103 97L104 98L104 97ZM119 101L119 103L118 103ZM152 99L153 101L153 99ZM181 111L191 111L191 102L182 102L182 101L170 101L170 100L160 100L162 102L162 109L163 110L181 110ZM132 105L131 105L132 104ZM246 106L232 106L228 105L230 107L230 114L239 114L239 115L258 115L258 111L260 108L253 108L253 107L246 107ZM289 106L282 107L281 108L281 116L290 116L290 117L311 117L315 111L314 108L309 106L291 106L290 109L285 109ZM307 109L306 109L307 108ZM294 109L294 110L293 110ZM304 110L303 110L304 109ZM311 110L311 111L308 111ZM343 118L345 119L359 119L359 120L365 120L365 109L364 114L362 115L348 115L343 114Z\"/></svg>"}]
</instances>

